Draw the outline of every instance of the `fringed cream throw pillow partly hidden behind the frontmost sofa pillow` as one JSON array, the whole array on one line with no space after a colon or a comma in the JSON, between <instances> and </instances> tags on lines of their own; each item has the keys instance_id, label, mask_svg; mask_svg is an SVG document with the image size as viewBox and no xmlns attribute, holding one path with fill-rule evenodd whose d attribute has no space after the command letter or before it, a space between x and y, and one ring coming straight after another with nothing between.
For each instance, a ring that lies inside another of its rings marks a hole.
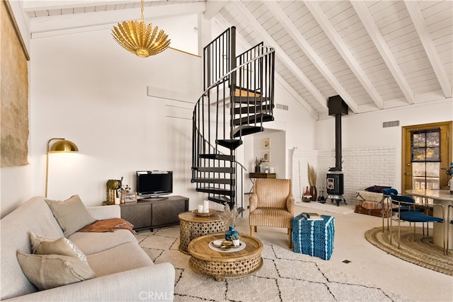
<instances>
[{"instance_id":1,"label":"fringed cream throw pillow partly hidden behind the frontmost sofa pillow","mask_svg":"<svg viewBox=\"0 0 453 302\"><path fill-rule=\"evenodd\" d=\"M84 254L84 252L77 248L76 245L72 243L72 241L68 238L50 238L34 232L30 232L30 242L33 254L57 254L78 257L81 261L88 265L88 260L86 260L86 255Z\"/></svg>"}]
</instances>

